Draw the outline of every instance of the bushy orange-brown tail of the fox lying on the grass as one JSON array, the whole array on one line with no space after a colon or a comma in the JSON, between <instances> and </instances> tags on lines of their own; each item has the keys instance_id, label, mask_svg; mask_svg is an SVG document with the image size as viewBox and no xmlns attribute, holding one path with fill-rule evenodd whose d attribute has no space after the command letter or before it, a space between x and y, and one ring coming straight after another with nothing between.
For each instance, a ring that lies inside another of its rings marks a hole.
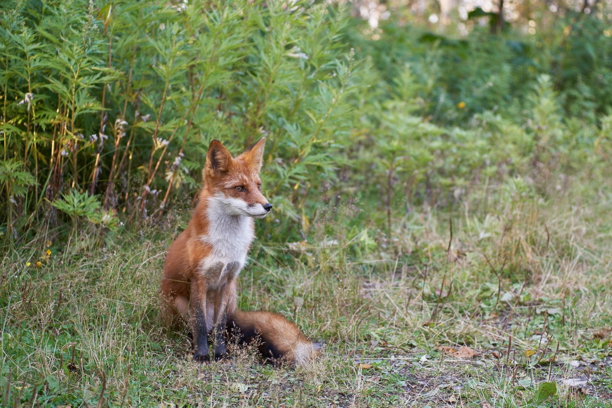
<instances>
[{"instance_id":1,"label":"bushy orange-brown tail of the fox lying on the grass","mask_svg":"<svg viewBox=\"0 0 612 408\"><path fill-rule=\"evenodd\" d=\"M312 343L297 326L280 314L236 310L228 318L228 336L237 344L257 344L259 352L272 363L301 364L321 352L321 343Z\"/></svg>"}]
</instances>

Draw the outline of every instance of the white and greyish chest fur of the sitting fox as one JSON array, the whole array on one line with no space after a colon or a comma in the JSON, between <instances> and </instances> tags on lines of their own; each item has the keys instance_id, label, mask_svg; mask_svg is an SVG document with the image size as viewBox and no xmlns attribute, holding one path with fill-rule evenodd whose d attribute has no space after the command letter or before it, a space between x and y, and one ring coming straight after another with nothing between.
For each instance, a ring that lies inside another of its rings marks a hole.
<instances>
[{"instance_id":1,"label":"white and greyish chest fur of the sitting fox","mask_svg":"<svg viewBox=\"0 0 612 408\"><path fill-rule=\"evenodd\" d=\"M254 238L253 220L228 214L215 198L209 199L206 215L208 229L200 240L211 247L211 252L200 262L200 273L206 276L209 289L217 289L244 267Z\"/></svg>"}]
</instances>

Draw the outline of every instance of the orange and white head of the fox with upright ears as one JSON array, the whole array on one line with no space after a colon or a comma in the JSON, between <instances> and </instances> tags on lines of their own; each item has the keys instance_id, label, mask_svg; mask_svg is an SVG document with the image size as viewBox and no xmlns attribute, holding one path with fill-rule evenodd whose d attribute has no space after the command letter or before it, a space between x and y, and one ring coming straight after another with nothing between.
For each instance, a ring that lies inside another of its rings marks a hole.
<instances>
[{"instance_id":1,"label":"orange and white head of the fox with upright ears","mask_svg":"<svg viewBox=\"0 0 612 408\"><path fill-rule=\"evenodd\" d=\"M272 209L272 204L261 193L259 178L265 143L266 138L261 138L235 158L218 140L208 146L204 188L228 215L264 218Z\"/></svg>"}]
</instances>

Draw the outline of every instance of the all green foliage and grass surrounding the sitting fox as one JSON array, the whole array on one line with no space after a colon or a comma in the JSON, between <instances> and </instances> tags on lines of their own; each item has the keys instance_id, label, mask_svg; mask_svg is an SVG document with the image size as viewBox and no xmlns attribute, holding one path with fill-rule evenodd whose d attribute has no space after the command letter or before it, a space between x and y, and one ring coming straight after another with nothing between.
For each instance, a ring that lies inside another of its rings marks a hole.
<instances>
[{"instance_id":1,"label":"all green foliage and grass surrounding the sitting fox","mask_svg":"<svg viewBox=\"0 0 612 408\"><path fill-rule=\"evenodd\" d=\"M0 405L388 407L437 380L454 405L610 395L611 10L535 8L534 34L472 13L458 35L327 3L1 2ZM193 365L160 324L163 256L209 142L261 136L274 210L240 306L326 351ZM561 357L596 369L589 395Z\"/></svg>"}]
</instances>

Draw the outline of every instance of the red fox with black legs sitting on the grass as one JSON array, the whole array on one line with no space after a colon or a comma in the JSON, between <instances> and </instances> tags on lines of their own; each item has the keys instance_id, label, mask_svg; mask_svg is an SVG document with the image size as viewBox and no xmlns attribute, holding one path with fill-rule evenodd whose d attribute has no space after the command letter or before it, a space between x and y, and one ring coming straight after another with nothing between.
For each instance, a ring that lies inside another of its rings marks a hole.
<instances>
[{"instance_id":1,"label":"red fox with black legs sitting on the grass","mask_svg":"<svg viewBox=\"0 0 612 408\"><path fill-rule=\"evenodd\" d=\"M264 218L272 209L259 179L265 142L259 139L236 158L220 141L211 142L195 212L166 255L166 313L190 322L196 362L210 360L212 333L217 360L227 354L228 336L239 344L258 339L263 357L274 362L302 363L319 349L283 316L236 310L236 280L255 237L253 218Z\"/></svg>"}]
</instances>

